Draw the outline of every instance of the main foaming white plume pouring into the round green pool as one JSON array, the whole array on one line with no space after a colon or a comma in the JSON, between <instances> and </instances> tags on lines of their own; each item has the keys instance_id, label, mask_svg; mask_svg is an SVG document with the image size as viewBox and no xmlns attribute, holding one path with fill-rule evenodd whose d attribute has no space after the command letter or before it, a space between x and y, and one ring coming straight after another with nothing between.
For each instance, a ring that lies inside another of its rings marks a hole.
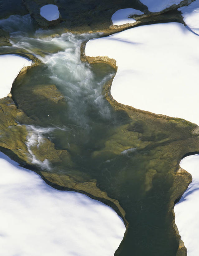
<instances>
[{"instance_id":1,"label":"main foaming white plume pouring into the round green pool","mask_svg":"<svg viewBox=\"0 0 199 256\"><path fill-rule=\"evenodd\" d=\"M102 96L102 86L108 81L113 73L107 74L102 80L96 81L88 63L80 61L80 45L88 36L75 38L73 34L63 35L73 42L73 47L65 49L45 57L45 64L51 70L52 83L66 95L66 100L70 109L70 118L76 125L86 127L89 122L89 111L98 112L102 118L111 118L111 112ZM59 39L61 40L61 39ZM92 104L92 107L90 106Z\"/></svg>"}]
</instances>

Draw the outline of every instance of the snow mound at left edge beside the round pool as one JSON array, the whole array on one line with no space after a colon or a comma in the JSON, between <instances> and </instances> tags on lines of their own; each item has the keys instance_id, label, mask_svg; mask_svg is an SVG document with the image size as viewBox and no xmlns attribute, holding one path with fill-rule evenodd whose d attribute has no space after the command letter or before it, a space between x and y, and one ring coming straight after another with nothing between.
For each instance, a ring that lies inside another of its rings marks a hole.
<instances>
[{"instance_id":1,"label":"snow mound at left edge beside the round pool","mask_svg":"<svg viewBox=\"0 0 199 256\"><path fill-rule=\"evenodd\" d=\"M31 66L32 61L15 54L0 55L0 98L6 97L12 88L12 83L22 68Z\"/></svg>"}]
</instances>

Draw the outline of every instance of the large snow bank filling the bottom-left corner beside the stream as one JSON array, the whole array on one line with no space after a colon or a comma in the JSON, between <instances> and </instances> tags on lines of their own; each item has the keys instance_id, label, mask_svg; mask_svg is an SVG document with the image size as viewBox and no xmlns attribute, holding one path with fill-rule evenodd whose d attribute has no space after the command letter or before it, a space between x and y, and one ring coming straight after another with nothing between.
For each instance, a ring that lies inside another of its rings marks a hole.
<instances>
[{"instance_id":1,"label":"large snow bank filling the bottom-left corner beside the stream","mask_svg":"<svg viewBox=\"0 0 199 256\"><path fill-rule=\"evenodd\" d=\"M114 255L125 226L112 208L50 187L3 153L0 172L1 255Z\"/></svg>"}]
</instances>

